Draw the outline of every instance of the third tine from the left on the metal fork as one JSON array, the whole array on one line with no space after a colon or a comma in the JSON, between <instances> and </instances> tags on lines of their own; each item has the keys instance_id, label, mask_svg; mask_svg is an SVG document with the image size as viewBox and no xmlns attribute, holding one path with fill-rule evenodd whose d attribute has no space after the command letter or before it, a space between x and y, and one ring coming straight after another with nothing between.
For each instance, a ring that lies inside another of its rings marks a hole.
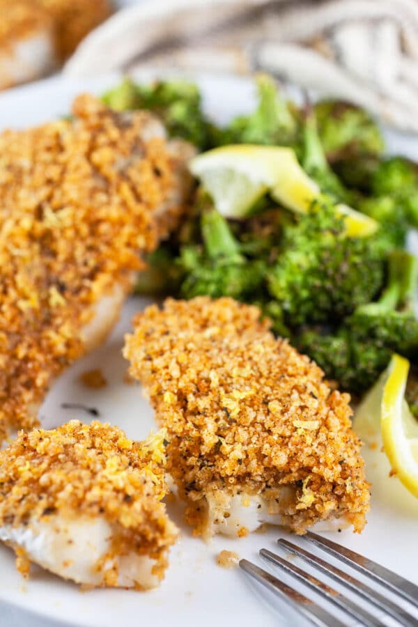
<instances>
[{"instance_id":1,"label":"third tine from the left on the metal fork","mask_svg":"<svg viewBox=\"0 0 418 627\"><path fill-rule=\"evenodd\" d=\"M403 607L399 607L393 601L389 601L389 599L379 594L376 590L364 584L362 581L357 580L352 575L341 571L336 566L332 566L332 564L328 564L325 560L321 559L317 555L310 553L309 551L304 550L300 546L293 544L292 542L288 542L284 539L279 539L277 541L281 548L290 551L297 557L300 557L311 564L311 566L315 566L319 571L325 573L325 575L329 575L334 581L341 583L346 588L350 589L355 594L358 594L366 601L371 603L378 608L378 610L382 610L392 616L392 618L396 619L398 623L401 625L405 625L407 627L418 627L418 621L413 617L409 612L406 612Z\"/></svg>"}]
</instances>

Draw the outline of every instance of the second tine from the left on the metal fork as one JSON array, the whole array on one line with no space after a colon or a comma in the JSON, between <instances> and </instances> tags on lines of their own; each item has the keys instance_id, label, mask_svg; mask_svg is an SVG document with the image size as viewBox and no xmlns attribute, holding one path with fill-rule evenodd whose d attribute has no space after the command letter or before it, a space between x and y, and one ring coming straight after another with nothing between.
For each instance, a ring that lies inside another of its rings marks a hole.
<instances>
[{"instance_id":1,"label":"second tine from the left on the metal fork","mask_svg":"<svg viewBox=\"0 0 418 627\"><path fill-rule=\"evenodd\" d=\"M343 596L343 594L334 590L334 588L319 579L316 579L316 577L306 571L302 571L302 568L295 566L295 564L291 564L291 562L288 562L286 559L279 557L279 555L267 549L261 549L260 555L267 559L268 562L272 562L275 566L282 568L286 573L302 582L311 590L314 590L314 592L327 601L330 601L333 605L336 605L336 607L339 607L340 610L343 610L343 612L346 612L349 616L360 621L362 625L366 627L379 627L382 624L380 619L373 617L372 614L369 614L369 612L359 607L356 603L353 603L353 601Z\"/></svg>"}]
</instances>

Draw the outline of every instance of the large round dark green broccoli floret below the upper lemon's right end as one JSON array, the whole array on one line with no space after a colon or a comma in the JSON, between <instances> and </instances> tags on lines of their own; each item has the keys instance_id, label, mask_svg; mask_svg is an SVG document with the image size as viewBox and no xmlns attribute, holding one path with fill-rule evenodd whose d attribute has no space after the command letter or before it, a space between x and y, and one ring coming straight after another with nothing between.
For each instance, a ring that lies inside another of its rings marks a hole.
<instances>
[{"instance_id":1,"label":"large round dark green broccoli floret below the upper lemon's right end","mask_svg":"<svg viewBox=\"0 0 418 627\"><path fill-rule=\"evenodd\" d=\"M316 203L285 227L269 290L288 324L339 320L380 291L384 257L376 235L348 238L334 206Z\"/></svg>"}]
</instances>

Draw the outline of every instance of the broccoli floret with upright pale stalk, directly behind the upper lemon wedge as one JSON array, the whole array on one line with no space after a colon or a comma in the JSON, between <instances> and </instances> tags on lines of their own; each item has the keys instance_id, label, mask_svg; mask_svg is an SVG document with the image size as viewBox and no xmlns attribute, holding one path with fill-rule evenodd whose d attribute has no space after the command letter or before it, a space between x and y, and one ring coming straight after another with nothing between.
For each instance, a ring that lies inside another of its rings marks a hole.
<instances>
[{"instance_id":1,"label":"broccoli floret with upright pale stalk, directly behind the upper lemon wedge","mask_svg":"<svg viewBox=\"0 0 418 627\"><path fill-rule=\"evenodd\" d=\"M258 107L249 116L239 116L219 134L217 144L265 144L290 146L298 133L297 111L286 102L267 75L256 79Z\"/></svg>"}]
</instances>

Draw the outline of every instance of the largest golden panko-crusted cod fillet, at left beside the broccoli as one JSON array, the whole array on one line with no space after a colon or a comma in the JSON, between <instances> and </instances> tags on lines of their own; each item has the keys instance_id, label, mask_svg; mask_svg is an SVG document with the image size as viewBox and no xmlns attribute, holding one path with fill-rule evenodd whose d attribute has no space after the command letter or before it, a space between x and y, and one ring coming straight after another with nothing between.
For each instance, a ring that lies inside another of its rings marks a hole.
<instances>
[{"instance_id":1,"label":"largest golden panko-crusted cod fillet, at left beside the broccoli","mask_svg":"<svg viewBox=\"0 0 418 627\"><path fill-rule=\"evenodd\" d=\"M118 318L141 254L187 208L194 152L146 111L79 96L73 118L0 134L0 432Z\"/></svg>"}]
</instances>

